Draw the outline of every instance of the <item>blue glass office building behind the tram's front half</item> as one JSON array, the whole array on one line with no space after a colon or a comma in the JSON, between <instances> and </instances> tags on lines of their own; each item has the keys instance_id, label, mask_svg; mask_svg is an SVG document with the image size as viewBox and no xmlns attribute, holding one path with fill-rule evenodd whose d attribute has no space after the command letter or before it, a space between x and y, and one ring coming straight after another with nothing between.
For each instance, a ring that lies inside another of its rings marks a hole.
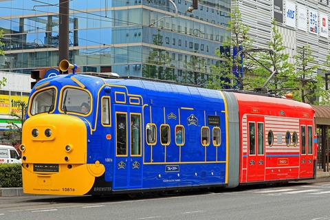
<instances>
[{"instance_id":1,"label":"blue glass office building behind the tram's front half","mask_svg":"<svg viewBox=\"0 0 330 220\"><path fill-rule=\"evenodd\" d=\"M69 62L80 72L172 80L198 72L207 78L219 62L215 49L230 35L230 0L199 0L198 9L187 12L191 6L184 0L71 0ZM57 67L59 1L0 1L0 8L0 70L30 74Z\"/></svg>"}]
</instances>

